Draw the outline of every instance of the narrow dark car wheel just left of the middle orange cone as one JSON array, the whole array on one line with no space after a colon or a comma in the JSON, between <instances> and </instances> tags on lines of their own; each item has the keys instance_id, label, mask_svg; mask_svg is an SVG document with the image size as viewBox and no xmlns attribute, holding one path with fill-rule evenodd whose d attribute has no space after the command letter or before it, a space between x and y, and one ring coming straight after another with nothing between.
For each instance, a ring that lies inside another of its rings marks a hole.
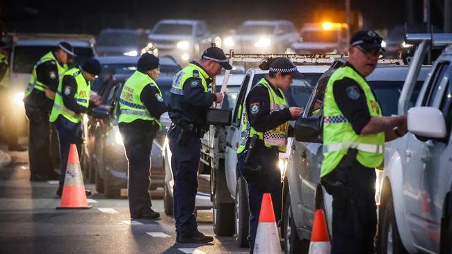
<instances>
[{"instance_id":1,"label":"narrow dark car wheel just left of the middle orange cone","mask_svg":"<svg viewBox=\"0 0 452 254\"><path fill-rule=\"evenodd\" d=\"M248 225L250 211L248 210L248 195L246 194L246 183L242 176L237 179L235 211L235 239L241 248L248 247Z\"/></svg>"}]
</instances>

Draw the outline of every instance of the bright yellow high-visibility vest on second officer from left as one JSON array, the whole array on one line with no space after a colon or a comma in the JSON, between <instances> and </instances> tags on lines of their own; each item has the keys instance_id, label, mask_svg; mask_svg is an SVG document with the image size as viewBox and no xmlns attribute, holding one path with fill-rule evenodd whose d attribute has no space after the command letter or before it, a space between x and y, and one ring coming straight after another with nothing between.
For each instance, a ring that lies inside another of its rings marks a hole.
<instances>
[{"instance_id":1,"label":"bright yellow high-visibility vest on second officer from left","mask_svg":"<svg viewBox=\"0 0 452 254\"><path fill-rule=\"evenodd\" d=\"M90 94L91 94L91 82L86 81L86 78L83 76L81 69L72 68L67 71L64 76L73 76L77 83L77 91L74 95L74 99L76 102L83 106L84 108L88 108L90 104ZM58 115L63 115L69 121L73 123L79 123L83 117L83 114L76 114L72 110L65 107L63 102L63 78L60 79L60 83L58 84L58 90L55 95L54 107L51 110L49 121L54 122L58 118Z\"/></svg>"}]
</instances>

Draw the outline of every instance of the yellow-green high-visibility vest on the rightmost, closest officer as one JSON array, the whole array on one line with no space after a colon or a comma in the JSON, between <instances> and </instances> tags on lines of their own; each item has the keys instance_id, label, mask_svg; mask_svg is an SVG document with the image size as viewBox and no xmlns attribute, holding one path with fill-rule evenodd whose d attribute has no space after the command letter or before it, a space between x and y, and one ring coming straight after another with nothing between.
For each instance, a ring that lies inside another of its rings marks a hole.
<instances>
[{"instance_id":1,"label":"yellow-green high-visibility vest on the rightmost, closest officer","mask_svg":"<svg viewBox=\"0 0 452 254\"><path fill-rule=\"evenodd\" d=\"M365 167L381 167L384 158L385 133L357 135L352 125L342 114L334 100L333 86L335 81L351 78L364 91L367 107L371 117L381 117L382 112L371 87L366 80L351 67L341 67L334 71L328 81L323 105L323 162L321 177L334 170L348 149L357 149L356 159Z\"/></svg>"}]
</instances>

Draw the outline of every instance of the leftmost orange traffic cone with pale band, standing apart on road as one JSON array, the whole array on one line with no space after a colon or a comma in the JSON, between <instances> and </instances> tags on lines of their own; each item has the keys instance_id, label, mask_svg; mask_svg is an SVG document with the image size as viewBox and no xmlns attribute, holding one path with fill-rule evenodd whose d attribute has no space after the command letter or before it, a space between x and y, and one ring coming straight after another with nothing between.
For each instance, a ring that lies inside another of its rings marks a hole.
<instances>
[{"instance_id":1,"label":"leftmost orange traffic cone with pale band, standing apart on road","mask_svg":"<svg viewBox=\"0 0 452 254\"><path fill-rule=\"evenodd\" d=\"M79 154L75 144L71 144L69 158L67 158L67 168L65 175L65 185L61 195L60 206L56 209L88 209L86 201L85 185L80 169Z\"/></svg>"}]
</instances>

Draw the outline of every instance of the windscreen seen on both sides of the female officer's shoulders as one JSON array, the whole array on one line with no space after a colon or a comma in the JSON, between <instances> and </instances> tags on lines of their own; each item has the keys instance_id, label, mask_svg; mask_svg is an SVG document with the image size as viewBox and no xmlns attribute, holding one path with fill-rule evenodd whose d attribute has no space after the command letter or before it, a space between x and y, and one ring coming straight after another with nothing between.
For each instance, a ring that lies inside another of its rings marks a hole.
<instances>
[{"instance_id":1,"label":"windscreen seen on both sides of the female officer's shoulders","mask_svg":"<svg viewBox=\"0 0 452 254\"><path fill-rule=\"evenodd\" d=\"M292 85L288 90L284 91L289 107L306 107L309 96L311 96L322 73L303 73L302 75L302 78L293 78ZM252 86L255 86L265 76L266 74L256 74L252 80Z\"/></svg>"}]
</instances>

